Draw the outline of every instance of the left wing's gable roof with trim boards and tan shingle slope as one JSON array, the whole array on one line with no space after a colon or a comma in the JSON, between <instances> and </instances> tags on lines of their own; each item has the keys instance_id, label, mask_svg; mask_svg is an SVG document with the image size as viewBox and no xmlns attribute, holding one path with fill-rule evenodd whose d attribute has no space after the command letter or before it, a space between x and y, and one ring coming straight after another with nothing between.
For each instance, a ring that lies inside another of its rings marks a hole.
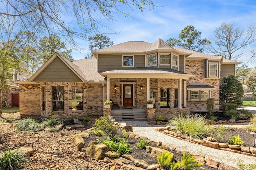
<instances>
[{"instance_id":1,"label":"left wing's gable roof with trim boards and tan shingle slope","mask_svg":"<svg viewBox=\"0 0 256 170\"><path fill-rule=\"evenodd\" d=\"M55 53L46 63L44 63L30 78L28 81L32 82L34 79L50 64L54 59L58 57L82 82L99 82L104 81L104 78L97 72L96 59L88 59L89 62L85 62L86 59L71 62L62 55Z\"/></svg>"}]
</instances>

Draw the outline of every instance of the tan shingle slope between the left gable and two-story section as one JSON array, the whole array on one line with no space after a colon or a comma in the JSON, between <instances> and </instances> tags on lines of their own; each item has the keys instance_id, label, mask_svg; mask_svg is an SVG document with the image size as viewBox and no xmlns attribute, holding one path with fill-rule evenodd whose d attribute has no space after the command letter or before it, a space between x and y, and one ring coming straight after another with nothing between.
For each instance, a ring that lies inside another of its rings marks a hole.
<instances>
[{"instance_id":1,"label":"tan shingle slope between the left gable and two-story section","mask_svg":"<svg viewBox=\"0 0 256 170\"><path fill-rule=\"evenodd\" d=\"M104 77L102 77L97 72L97 60L96 59L80 59L77 61L73 61L72 64L76 65L80 68L82 72L82 77L87 81L104 81Z\"/></svg>"}]
</instances>

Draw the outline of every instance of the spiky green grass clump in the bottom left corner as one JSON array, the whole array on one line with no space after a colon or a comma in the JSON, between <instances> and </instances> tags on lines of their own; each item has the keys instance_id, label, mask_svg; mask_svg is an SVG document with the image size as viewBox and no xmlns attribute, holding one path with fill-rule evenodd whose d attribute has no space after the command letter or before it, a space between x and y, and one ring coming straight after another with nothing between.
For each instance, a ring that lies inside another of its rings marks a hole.
<instances>
[{"instance_id":1,"label":"spiky green grass clump in the bottom left corner","mask_svg":"<svg viewBox=\"0 0 256 170\"><path fill-rule=\"evenodd\" d=\"M28 161L26 154L20 150L12 150L13 148L8 147L2 153L0 158L0 169L1 170L19 170Z\"/></svg>"}]
</instances>

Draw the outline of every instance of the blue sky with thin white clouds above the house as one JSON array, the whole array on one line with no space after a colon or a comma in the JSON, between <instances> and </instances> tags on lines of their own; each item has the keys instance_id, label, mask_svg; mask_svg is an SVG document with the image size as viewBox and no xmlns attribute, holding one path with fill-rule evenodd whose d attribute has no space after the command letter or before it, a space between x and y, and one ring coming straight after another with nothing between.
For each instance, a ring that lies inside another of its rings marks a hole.
<instances>
[{"instance_id":1,"label":"blue sky with thin white clouds above the house","mask_svg":"<svg viewBox=\"0 0 256 170\"><path fill-rule=\"evenodd\" d=\"M239 28L246 28L250 23L256 23L255 0L153 0L156 6L152 10L148 7L143 13L140 10L123 9L135 19L122 15L116 16L116 22L107 23L109 29L117 33L110 33L103 29L115 44L126 41L146 41L155 43L158 38L166 41L169 38L178 39L178 35L187 25L193 25L202 32L201 38L211 39L214 30L223 21L234 22ZM104 22L104 20L103 20ZM88 42L81 42L83 50L73 51L75 60L82 59L88 52ZM256 43L250 49L256 49ZM246 55L239 61L247 61ZM245 62L246 63L246 62ZM249 64L253 66L252 64Z\"/></svg>"}]
</instances>

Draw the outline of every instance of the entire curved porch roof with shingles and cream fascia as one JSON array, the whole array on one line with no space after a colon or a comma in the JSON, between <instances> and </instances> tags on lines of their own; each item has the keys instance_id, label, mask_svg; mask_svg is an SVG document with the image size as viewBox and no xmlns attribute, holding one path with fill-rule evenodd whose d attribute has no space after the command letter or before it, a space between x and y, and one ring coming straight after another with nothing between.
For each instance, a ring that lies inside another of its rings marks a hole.
<instances>
[{"instance_id":1,"label":"entire curved porch roof with shingles and cream fascia","mask_svg":"<svg viewBox=\"0 0 256 170\"><path fill-rule=\"evenodd\" d=\"M193 78L194 75L186 74L170 68L149 68L149 67L138 67L138 68L127 68L123 70L110 70L100 72L102 76L109 78L174 78L174 79L185 79L188 80Z\"/></svg>"}]
</instances>

